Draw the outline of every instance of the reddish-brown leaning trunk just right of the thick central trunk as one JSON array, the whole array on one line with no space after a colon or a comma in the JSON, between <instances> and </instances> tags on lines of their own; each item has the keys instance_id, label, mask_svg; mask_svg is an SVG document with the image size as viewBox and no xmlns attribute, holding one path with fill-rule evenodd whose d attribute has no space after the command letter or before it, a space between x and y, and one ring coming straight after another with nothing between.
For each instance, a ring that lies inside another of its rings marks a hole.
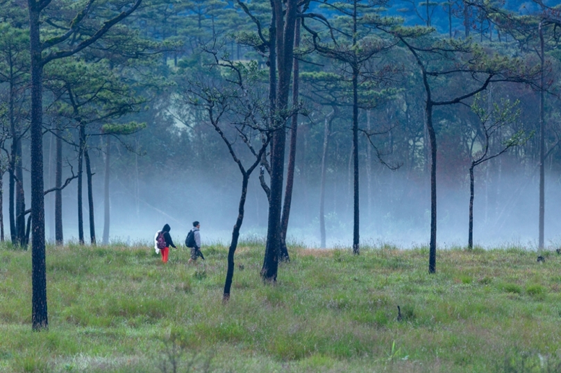
<instances>
[{"instance_id":1,"label":"reddish-brown leaning trunk just right of the thick central trunk","mask_svg":"<svg viewBox=\"0 0 561 373\"><path fill-rule=\"evenodd\" d=\"M300 20L296 20L296 31L294 34L294 49L300 46ZM298 105L299 96L299 64L294 58L294 76L292 78L292 105ZM281 216L281 261L290 261L286 247L286 232L288 230L288 219L290 218L290 205L292 205L292 189L294 186L294 166L296 165L296 139L298 135L298 113L292 115L290 133L290 148L288 150L288 165L286 174L285 200L283 215Z\"/></svg>"}]
</instances>

